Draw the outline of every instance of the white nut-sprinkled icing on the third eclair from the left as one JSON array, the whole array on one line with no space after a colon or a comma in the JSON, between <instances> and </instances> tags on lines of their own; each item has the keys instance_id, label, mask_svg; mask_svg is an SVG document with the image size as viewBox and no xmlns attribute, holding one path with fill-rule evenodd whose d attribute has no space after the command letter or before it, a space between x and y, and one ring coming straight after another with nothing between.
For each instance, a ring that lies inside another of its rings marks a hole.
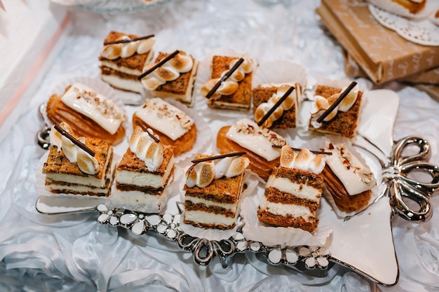
<instances>
[{"instance_id":1,"label":"white nut-sprinkled icing on the third eclair from the left","mask_svg":"<svg viewBox=\"0 0 439 292\"><path fill-rule=\"evenodd\" d=\"M273 147L286 144L285 139L269 129L259 127L257 123L243 118L234 123L227 131L227 137L267 161L281 155L281 149Z\"/></svg>"}]
</instances>

